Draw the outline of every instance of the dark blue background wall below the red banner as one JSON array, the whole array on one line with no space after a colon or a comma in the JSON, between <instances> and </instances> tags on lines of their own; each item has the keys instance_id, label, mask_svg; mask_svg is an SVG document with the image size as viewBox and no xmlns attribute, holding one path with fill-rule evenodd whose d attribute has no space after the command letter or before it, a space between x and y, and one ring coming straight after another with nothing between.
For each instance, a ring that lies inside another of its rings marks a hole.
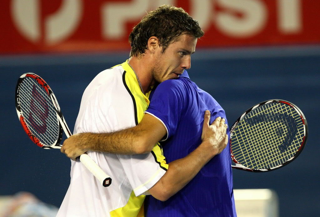
<instances>
[{"instance_id":1,"label":"dark blue background wall below the red banner","mask_svg":"<svg viewBox=\"0 0 320 217\"><path fill-rule=\"evenodd\" d=\"M60 206L70 182L70 160L59 150L43 150L25 135L15 112L14 90L23 73L44 78L55 93L69 128L82 93L100 71L123 62L127 53L0 57L0 195L28 191ZM320 47L265 47L197 50L190 78L224 107L229 123L267 99L300 107L309 127L307 145L291 164L269 173L234 170L234 188L270 188L277 192L280 216L319 216Z\"/></svg>"}]
</instances>

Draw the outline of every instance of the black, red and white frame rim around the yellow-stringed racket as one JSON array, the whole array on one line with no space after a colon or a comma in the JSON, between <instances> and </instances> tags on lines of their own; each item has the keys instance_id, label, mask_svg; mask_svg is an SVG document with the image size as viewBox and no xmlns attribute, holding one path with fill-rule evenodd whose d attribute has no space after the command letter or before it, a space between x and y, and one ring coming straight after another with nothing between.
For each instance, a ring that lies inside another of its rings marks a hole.
<instances>
[{"instance_id":1,"label":"black, red and white frame rim around the yellow-stringed racket","mask_svg":"<svg viewBox=\"0 0 320 217\"><path fill-rule=\"evenodd\" d=\"M235 156L233 155L232 153L232 147L231 147L231 138L232 138L232 135L233 135L233 131L234 129L236 128L236 126L238 125L238 123L244 118L244 116L246 114L248 114L249 112L251 112L252 110L258 108L259 106L261 105L266 105L266 104L270 104L270 103L273 103L273 102L278 102L278 103L285 103L287 105L290 105L292 108L294 108L298 114L300 114L300 118L302 120L302 123L304 125L304 137L302 139L302 142L300 144L300 148L299 150L294 154L294 156L292 156L290 159L288 159L287 161L285 161L283 164L279 164L275 167L271 167L271 168L267 168L267 169L253 169L253 168L248 168L248 167L245 167L243 166L242 164L240 164L237 159L235 158ZM302 111L296 106L294 105L293 103L289 102L289 101L286 101L286 100L282 100L282 99L270 99L270 100L266 100L266 101L263 101L257 105L254 105L252 106L251 108L247 109L237 120L236 122L232 125L231 129L230 129L230 140L229 140L229 143L230 143L230 155L231 155L231 159L232 161L236 164L236 165L231 165L232 168L235 168L235 169L239 169L239 170L245 170L245 171L249 171L249 172L268 172L268 171L272 171L272 170L276 170L276 169L279 169L280 167L283 167L287 164L289 164L290 162L292 162L294 159L296 159L300 153L302 152L306 142L307 142L307 137L308 137L308 124L307 124L307 120L304 116L304 114L302 113Z\"/></svg>"}]
</instances>

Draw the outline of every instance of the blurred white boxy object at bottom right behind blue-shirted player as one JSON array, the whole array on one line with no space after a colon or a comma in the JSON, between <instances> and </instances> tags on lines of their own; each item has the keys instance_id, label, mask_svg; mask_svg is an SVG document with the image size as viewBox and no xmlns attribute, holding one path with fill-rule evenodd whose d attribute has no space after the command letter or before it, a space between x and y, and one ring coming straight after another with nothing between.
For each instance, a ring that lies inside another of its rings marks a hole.
<instances>
[{"instance_id":1,"label":"blurred white boxy object at bottom right behind blue-shirted player","mask_svg":"<svg viewBox=\"0 0 320 217\"><path fill-rule=\"evenodd\" d=\"M278 196L270 189L235 189L238 217L278 217Z\"/></svg>"}]
</instances>

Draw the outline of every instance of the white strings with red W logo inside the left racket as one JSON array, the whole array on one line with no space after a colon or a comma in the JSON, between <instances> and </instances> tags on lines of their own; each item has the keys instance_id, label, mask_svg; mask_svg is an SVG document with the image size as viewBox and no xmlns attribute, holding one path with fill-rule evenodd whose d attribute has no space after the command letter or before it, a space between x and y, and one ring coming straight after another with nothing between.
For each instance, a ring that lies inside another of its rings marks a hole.
<instances>
[{"instance_id":1,"label":"white strings with red W logo inside the left racket","mask_svg":"<svg viewBox=\"0 0 320 217\"><path fill-rule=\"evenodd\" d=\"M34 78L25 77L18 92L21 113L31 133L44 146L57 142L59 122L50 96Z\"/></svg>"}]
</instances>

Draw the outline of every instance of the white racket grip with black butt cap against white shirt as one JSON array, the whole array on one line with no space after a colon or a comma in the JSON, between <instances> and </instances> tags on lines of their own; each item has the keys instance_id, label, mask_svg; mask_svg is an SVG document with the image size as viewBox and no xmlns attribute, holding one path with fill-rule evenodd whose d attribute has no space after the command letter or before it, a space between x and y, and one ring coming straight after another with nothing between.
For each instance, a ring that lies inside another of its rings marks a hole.
<instances>
[{"instance_id":1,"label":"white racket grip with black butt cap against white shirt","mask_svg":"<svg viewBox=\"0 0 320 217\"><path fill-rule=\"evenodd\" d=\"M80 155L80 161L104 186L111 185L112 179L86 153Z\"/></svg>"}]
</instances>

